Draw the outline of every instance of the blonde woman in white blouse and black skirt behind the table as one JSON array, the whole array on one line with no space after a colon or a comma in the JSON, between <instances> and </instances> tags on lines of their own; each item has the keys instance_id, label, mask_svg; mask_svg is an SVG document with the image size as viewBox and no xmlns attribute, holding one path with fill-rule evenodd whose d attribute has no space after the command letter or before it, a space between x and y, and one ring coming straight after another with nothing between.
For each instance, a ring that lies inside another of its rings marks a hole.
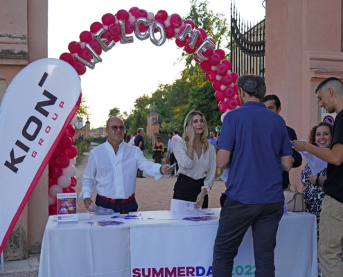
<instances>
[{"instance_id":1,"label":"blonde woman in white blouse and black skirt behind the table","mask_svg":"<svg viewBox=\"0 0 343 277\"><path fill-rule=\"evenodd\" d=\"M174 199L195 202L195 208L209 206L210 192L216 173L216 149L207 140L209 131L200 111L190 111L184 120L182 140L174 145L179 177L174 186Z\"/></svg>"}]
</instances>

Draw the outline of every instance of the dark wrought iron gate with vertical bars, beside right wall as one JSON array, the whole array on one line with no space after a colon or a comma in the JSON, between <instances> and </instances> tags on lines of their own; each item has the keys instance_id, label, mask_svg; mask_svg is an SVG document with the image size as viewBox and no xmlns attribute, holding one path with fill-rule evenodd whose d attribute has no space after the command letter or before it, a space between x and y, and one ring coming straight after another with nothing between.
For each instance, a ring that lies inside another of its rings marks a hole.
<instances>
[{"instance_id":1,"label":"dark wrought iron gate with vertical bars, beside right wall","mask_svg":"<svg viewBox=\"0 0 343 277\"><path fill-rule=\"evenodd\" d=\"M232 71L265 78L265 19L257 24L243 20L231 2L231 42L227 48Z\"/></svg>"}]
</instances>

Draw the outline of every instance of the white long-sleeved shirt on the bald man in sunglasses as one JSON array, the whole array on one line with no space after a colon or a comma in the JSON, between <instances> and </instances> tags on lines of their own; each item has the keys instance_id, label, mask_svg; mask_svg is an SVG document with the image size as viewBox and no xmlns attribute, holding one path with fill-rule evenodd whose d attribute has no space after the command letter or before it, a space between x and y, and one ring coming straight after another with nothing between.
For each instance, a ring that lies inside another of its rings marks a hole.
<instances>
[{"instance_id":1,"label":"white long-sleeved shirt on the bald man in sunglasses","mask_svg":"<svg viewBox=\"0 0 343 277\"><path fill-rule=\"evenodd\" d=\"M99 195L127 199L136 191L137 168L158 180L162 176L160 167L159 163L148 161L136 146L122 142L115 154L112 145L106 141L89 153L80 197L91 198L95 186Z\"/></svg>"}]
</instances>

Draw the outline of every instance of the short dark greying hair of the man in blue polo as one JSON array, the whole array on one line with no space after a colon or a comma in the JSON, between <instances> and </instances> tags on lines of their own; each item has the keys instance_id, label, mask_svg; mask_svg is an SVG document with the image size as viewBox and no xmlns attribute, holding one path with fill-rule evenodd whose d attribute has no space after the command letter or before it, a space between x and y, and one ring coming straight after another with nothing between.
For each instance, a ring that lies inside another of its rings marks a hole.
<instances>
[{"instance_id":1,"label":"short dark greying hair of the man in blue polo","mask_svg":"<svg viewBox=\"0 0 343 277\"><path fill-rule=\"evenodd\" d=\"M238 88L243 89L249 96L258 99L265 96L265 80L258 75L241 75L237 80Z\"/></svg>"}]
</instances>

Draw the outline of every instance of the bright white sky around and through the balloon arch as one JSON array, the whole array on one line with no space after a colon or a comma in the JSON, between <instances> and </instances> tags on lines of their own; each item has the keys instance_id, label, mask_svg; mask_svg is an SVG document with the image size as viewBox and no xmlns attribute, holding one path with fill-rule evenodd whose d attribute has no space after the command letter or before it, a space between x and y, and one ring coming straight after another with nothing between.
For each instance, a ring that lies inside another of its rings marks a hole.
<instances>
[{"instance_id":1,"label":"bright white sky around and through the balloon arch","mask_svg":"<svg viewBox=\"0 0 343 277\"><path fill-rule=\"evenodd\" d=\"M256 22L265 16L262 2L236 0L236 6L242 17ZM229 0L209 0L209 8L214 13L224 14L229 21L230 3ZM177 13L184 17L191 3L187 0L49 0L48 57L58 59L62 53L68 52L68 44L78 42L80 33L89 30L93 22L101 22L106 13L116 14L118 10L130 10L134 6L154 14L166 10L168 15ZM103 62L96 64L93 70L87 68L85 75L81 76L82 95L91 114L91 128L105 125L109 109L118 107L121 112L130 113L136 98L144 93L150 96L159 82L173 83L184 69L184 64L177 62L181 53L175 39L155 46L150 39L140 41L135 36L132 44L118 42L108 52L103 51Z\"/></svg>"}]
</instances>

